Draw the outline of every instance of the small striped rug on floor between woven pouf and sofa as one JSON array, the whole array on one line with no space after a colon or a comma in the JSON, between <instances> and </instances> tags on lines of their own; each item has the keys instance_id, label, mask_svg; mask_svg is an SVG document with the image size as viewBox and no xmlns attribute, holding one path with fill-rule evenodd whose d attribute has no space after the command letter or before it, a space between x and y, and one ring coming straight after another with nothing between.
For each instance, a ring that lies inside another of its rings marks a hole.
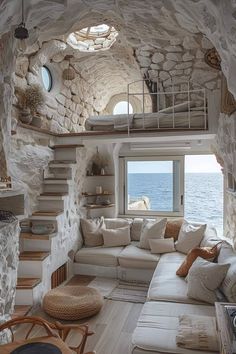
<instances>
[{"instance_id":1,"label":"small striped rug on floor between woven pouf and sofa","mask_svg":"<svg viewBox=\"0 0 236 354\"><path fill-rule=\"evenodd\" d=\"M144 304L147 298L149 284L119 281L107 299Z\"/></svg>"}]
</instances>

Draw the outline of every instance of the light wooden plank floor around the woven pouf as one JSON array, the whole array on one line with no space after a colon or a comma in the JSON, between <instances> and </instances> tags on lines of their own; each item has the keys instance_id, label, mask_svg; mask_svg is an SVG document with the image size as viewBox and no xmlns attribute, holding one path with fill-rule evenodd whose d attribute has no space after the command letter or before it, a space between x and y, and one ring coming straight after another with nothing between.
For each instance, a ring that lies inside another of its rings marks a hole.
<instances>
[{"instance_id":1,"label":"light wooden plank floor around the woven pouf","mask_svg":"<svg viewBox=\"0 0 236 354\"><path fill-rule=\"evenodd\" d=\"M94 277L75 276L68 285L88 285ZM105 300L105 304L96 316L88 320L74 321L74 323L88 323L95 332L89 337L86 351L95 350L96 354L131 354L131 336L143 304ZM40 309L32 315L41 316L54 322ZM66 321L61 321L66 323ZM71 338L73 341L73 338Z\"/></svg>"}]
</instances>

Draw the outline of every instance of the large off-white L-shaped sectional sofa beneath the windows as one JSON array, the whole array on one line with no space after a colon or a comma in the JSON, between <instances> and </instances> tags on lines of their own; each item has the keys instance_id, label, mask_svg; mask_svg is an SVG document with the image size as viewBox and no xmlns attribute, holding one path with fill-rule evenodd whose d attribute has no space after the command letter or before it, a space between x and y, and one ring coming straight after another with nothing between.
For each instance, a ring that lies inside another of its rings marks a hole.
<instances>
[{"instance_id":1,"label":"large off-white L-shaped sectional sofa beneath the windows","mask_svg":"<svg viewBox=\"0 0 236 354\"><path fill-rule=\"evenodd\" d=\"M207 347L202 350L186 349L176 344L179 316L215 316L214 304L189 297L188 283L176 275L177 269L186 259L180 251L152 254L138 247L142 221L105 219L109 229L130 225L131 244L125 247L82 247L75 256L78 274L102 275L125 280L150 279L147 301L143 306L137 327L132 336L133 354L210 354ZM170 224L171 225L171 224ZM176 225L175 225L176 226ZM133 230L132 230L133 228ZM178 238L180 225L165 237ZM176 231L177 230L177 231ZM176 236L177 234L177 236ZM213 247L221 241L214 229L206 227L200 247ZM236 253L230 243L220 244L218 264L225 265L225 278L220 285L220 300L236 302ZM206 317L205 317L206 318ZM215 351L217 352L217 351Z\"/></svg>"}]
</instances>

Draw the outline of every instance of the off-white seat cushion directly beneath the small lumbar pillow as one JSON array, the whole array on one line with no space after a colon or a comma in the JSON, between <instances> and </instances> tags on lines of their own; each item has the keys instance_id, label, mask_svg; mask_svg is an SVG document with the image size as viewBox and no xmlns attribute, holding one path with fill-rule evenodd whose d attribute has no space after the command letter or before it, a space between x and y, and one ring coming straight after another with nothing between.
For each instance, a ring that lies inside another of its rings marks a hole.
<instances>
[{"instance_id":1,"label":"off-white seat cushion directly beneath the small lumbar pillow","mask_svg":"<svg viewBox=\"0 0 236 354\"><path fill-rule=\"evenodd\" d=\"M133 242L119 254L119 264L124 268L155 269L160 259L159 254L151 254L149 250L137 247Z\"/></svg>"}]
</instances>

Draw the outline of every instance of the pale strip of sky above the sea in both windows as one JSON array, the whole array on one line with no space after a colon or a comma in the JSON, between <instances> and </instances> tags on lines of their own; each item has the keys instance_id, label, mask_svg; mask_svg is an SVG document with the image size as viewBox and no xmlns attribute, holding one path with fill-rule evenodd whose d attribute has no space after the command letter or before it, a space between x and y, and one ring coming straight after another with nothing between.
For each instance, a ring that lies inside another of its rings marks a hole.
<instances>
[{"instance_id":1,"label":"pale strip of sky above the sea in both windows","mask_svg":"<svg viewBox=\"0 0 236 354\"><path fill-rule=\"evenodd\" d=\"M171 173L170 161L137 161L129 162L128 173ZM221 166L214 155L186 155L186 173L221 173Z\"/></svg>"}]
</instances>

